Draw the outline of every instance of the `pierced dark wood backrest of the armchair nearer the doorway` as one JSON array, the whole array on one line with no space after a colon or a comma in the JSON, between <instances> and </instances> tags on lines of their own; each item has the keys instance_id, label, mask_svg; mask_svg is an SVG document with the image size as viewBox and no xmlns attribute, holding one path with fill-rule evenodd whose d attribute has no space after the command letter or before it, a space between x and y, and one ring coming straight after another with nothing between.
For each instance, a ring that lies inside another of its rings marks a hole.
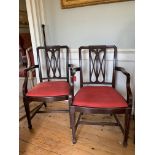
<instances>
[{"instance_id":1,"label":"pierced dark wood backrest of the armchair nearer the doorway","mask_svg":"<svg viewBox=\"0 0 155 155\"><path fill-rule=\"evenodd\" d=\"M46 66L46 75L43 77L40 66L40 80L50 79L67 79L68 73L68 57L69 57L69 48L67 46L46 46L38 47L38 61L40 64L40 55L41 52L45 52L45 66ZM63 58L64 57L64 58ZM63 73L67 73L64 75Z\"/></svg>"}]
</instances>

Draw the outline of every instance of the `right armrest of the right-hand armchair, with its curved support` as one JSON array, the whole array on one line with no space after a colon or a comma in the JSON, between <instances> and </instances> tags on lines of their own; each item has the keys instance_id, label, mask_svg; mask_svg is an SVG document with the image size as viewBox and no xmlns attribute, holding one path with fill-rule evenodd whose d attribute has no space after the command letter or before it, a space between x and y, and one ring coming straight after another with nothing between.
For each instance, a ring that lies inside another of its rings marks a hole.
<instances>
[{"instance_id":1,"label":"right armrest of the right-hand armchair, with its curved support","mask_svg":"<svg viewBox=\"0 0 155 155\"><path fill-rule=\"evenodd\" d=\"M132 92L130 88L130 74L123 67L115 67L116 71L120 71L126 76L127 103L132 107Z\"/></svg>"}]
</instances>

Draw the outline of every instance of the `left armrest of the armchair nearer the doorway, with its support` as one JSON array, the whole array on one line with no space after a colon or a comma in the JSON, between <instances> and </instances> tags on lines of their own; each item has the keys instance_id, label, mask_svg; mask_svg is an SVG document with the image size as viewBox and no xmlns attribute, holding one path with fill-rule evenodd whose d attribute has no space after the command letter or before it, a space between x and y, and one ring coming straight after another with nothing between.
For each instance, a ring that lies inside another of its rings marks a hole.
<instances>
[{"instance_id":1,"label":"left armrest of the armchair nearer the doorway, with its support","mask_svg":"<svg viewBox=\"0 0 155 155\"><path fill-rule=\"evenodd\" d=\"M35 68L39 68L39 65L34 65L34 66L31 66L29 68L26 68L24 69L24 83L23 83L23 96L26 96L26 93L28 91L27 89L27 83L28 83L28 72L35 69Z\"/></svg>"}]
</instances>

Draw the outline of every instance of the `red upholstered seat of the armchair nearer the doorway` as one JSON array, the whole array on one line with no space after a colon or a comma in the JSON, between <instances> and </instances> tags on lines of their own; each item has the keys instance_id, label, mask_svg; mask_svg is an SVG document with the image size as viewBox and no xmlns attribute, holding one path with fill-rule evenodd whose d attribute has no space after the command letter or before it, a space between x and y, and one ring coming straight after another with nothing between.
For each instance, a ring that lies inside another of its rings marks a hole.
<instances>
[{"instance_id":1,"label":"red upholstered seat of the armchair nearer the doorway","mask_svg":"<svg viewBox=\"0 0 155 155\"><path fill-rule=\"evenodd\" d=\"M66 81L41 82L34 86L26 96L61 96L69 94L69 84Z\"/></svg>"}]
</instances>

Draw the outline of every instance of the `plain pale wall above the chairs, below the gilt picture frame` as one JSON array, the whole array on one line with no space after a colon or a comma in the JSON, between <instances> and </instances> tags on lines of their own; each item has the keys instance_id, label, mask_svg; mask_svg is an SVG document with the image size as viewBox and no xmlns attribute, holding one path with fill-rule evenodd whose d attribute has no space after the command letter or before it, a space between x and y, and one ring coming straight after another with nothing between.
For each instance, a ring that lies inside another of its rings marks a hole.
<instances>
[{"instance_id":1,"label":"plain pale wall above the chairs, below the gilt picture frame","mask_svg":"<svg viewBox=\"0 0 155 155\"><path fill-rule=\"evenodd\" d=\"M115 44L135 48L134 1L61 9L59 0L44 0L48 44L71 48Z\"/></svg>"}]
</instances>

